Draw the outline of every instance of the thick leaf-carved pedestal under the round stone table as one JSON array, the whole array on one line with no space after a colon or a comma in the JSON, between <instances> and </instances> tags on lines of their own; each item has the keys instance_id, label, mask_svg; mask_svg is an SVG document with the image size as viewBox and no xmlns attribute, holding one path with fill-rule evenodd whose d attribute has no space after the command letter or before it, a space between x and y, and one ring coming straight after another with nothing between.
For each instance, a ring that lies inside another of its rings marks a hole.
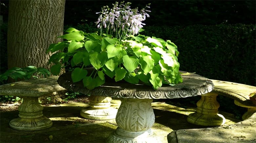
<instances>
[{"instance_id":1,"label":"thick leaf-carved pedestal under the round stone table","mask_svg":"<svg viewBox=\"0 0 256 143\"><path fill-rule=\"evenodd\" d=\"M121 99L117 112L117 129L107 138L110 143L156 143L151 127L155 115L152 99Z\"/></svg>"}]
</instances>

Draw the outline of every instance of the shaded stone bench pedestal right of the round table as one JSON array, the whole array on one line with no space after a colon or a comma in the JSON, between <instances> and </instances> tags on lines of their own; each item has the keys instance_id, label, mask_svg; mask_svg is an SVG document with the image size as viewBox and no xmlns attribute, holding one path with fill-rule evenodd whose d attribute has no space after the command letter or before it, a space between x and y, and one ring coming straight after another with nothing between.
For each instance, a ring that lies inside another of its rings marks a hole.
<instances>
[{"instance_id":1,"label":"shaded stone bench pedestal right of the round table","mask_svg":"<svg viewBox=\"0 0 256 143\"><path fill-rule=\"evenodd\" d=\"M223 125L226 119L218 114L220 104L216 100L217 96L218 94L215 93L202 94L201 99L197 102L196 112L189 114L187 121L201 126Z\"/></svg>"}]
</instances>

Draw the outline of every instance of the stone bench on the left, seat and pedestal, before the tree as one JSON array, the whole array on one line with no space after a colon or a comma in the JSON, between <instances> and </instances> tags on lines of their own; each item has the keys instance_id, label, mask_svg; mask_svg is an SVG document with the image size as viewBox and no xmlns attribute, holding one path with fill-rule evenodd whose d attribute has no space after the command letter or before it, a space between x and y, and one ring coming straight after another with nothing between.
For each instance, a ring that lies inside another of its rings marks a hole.
<instances>
[{"instance_id":1,"label":"stone bench on the left, seat and pedestal, before the tree","mask_svg":"<svg viewBox=\"0 0 256 143\"><path fill-rule=\"evenodd\" d=\"M66 90L57 83L58 76L37 78L0 86L0 95L13 95L23 98L18 107L19 118L12 119L10 127L16 130L34 131L49 128L52 121L43 115L43 106L38 98L50 96L53 92Z\"/></svg>"}]
</instances>

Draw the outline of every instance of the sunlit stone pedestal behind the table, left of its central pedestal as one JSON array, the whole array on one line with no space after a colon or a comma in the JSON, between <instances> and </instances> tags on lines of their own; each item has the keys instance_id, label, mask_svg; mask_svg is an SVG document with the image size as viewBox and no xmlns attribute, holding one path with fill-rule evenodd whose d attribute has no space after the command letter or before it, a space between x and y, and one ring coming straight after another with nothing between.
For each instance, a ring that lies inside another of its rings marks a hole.
<instances>
[{"instance_id":1,"label":"sunlit stone pedestal behind the table, left of its central pedestal","mask_svg":"<svg viewBox=\"0 0 256 143\"><path fill-rule=\"evenodd\" d=\"M111 97L93 96L89 97L89 106L82 109L80 115L86 119L108 120L115 119L117 109L110 107Z\"/></svg>"}]
</instances>

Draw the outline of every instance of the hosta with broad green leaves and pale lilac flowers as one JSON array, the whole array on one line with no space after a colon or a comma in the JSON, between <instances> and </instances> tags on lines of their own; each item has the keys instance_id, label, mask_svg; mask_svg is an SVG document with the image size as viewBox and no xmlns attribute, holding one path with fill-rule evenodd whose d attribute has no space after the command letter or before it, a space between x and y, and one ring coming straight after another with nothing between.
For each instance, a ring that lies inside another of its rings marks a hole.
<instances>
[{"instance_id":1,"label":"hosta with broad green leaves and pale lilac flowers","mask_svg":"<svg viewBox=\"0 0 256 143\"><path fill-rule=\"evenodd\" d=\"M57 75L62 64L71 59L76 67L71 74L73 82L81 81L84 87L94 89L105 83L106 76L116 82L143 83L158 89L162 84L175 85L182 82L179 74L179 52L170 40L139 34L146 17L146 8L131 9L131 3L113 4L99 12L96 26L100 33L86 33L75 28L59 36L63 42L49 46L51 72ZM86 67L95 71L88 74Z\"/></svg>"}]
</instances>

